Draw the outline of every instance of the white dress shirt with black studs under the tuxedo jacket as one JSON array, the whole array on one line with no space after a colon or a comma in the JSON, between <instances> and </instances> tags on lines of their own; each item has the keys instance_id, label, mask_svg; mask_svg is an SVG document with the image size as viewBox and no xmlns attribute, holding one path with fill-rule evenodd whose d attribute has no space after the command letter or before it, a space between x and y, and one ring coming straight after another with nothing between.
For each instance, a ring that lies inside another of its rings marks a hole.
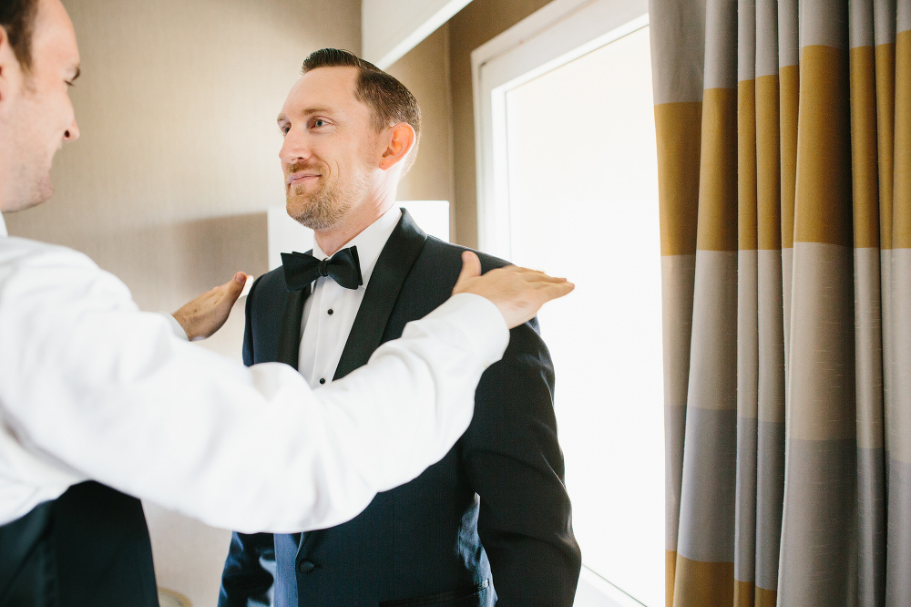
<instances>
[{"instance_id":1,"label":"white dress shirt with black studs under the tuxedo jacket","mask_svg":"<svg viewBox=\"0 0 911 607\"><path fill-rule=\"evenodd\" d=\"M301 350L298 357L298 368L311 387L333 381L335 367L342 358L345 342L348 341L354 317L361 307L367 283L374 273L376 260L401 217L402 210L393 205L378 220L343 245L343 249L357 247L363 280L361 286L345 289L328 276L321 276L313 283L312 294L303 304ZM313 257L330 257L322 252L315 238Z\"/></svg>"}]
</instances>

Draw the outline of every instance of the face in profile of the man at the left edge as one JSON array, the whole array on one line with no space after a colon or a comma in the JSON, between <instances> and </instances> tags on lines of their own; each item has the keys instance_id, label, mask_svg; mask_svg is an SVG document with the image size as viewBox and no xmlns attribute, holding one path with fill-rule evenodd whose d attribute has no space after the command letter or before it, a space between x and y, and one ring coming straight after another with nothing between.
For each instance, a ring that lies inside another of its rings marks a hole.
<instances>
[{"instance_id":1,"label":"face in profile of the man at the left edge","mask_svg":"<svg viewBox=\"0 0 911 607\"><path fill-rule=\"evenodd\" d=\"M4 40L8 47L8 41ZM76 33L59 0L40 0L32 39L32 68L5 65L7 95L0 105L4 155L3 211L20 211L54 193L50 170L64 141L79 137L68 88L79 72Z\"/></svg>"}]
</instances>

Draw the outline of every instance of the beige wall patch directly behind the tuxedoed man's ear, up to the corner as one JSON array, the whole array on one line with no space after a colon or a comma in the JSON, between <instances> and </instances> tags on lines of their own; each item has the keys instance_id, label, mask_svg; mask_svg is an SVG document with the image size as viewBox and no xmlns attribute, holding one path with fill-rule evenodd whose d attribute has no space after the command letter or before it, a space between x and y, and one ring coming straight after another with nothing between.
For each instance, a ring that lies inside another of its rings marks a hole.
<instances>
[{"instance_id":1,"label":"beige wall patch directly behind the tuxedoed man's ear, up to the corner","mask_svg":"<svg viewBox=\"0 0 911 607\"><path fill-rule=\"evenodd\" d=\"M421 145L415 166L399 184L400 201L449 201L450 238L455 238L453 132L449 87L449 26L437 29L388 71L421 106Z\"/></svg>"}]
</instances>

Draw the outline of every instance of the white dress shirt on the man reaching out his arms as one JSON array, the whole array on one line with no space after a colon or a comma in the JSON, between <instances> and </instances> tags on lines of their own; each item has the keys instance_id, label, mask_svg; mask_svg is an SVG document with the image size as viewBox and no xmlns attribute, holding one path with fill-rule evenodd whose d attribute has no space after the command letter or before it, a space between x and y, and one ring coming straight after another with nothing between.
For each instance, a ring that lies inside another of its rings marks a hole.
<instances>
[{"instance_id":1,"label":"white dress shirt on the man reaching out his arms","mask_svg":"<svg viewBox=\"0 0 911 607\"><path fill-rule=\"evenodd\" d=\"M226 529L339 524L445 455L507 342L463 293L313 392L178 339L85 255L0 217L0 524L86 478Z\"/></svg>"}]
</instances>

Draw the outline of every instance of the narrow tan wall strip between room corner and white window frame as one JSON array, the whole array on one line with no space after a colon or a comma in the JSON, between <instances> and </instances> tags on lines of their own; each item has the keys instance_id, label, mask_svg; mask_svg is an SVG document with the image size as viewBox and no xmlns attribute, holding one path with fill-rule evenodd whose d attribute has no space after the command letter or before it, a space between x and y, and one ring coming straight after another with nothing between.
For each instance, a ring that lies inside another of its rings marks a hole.
<instances>
[{"instance_id":1,"label":"narrow tan wall strip between room corner and white window frame","mask_svg":"<svg viewBox=\"0 0 911 607\"><path fill-rule=\"evenodd\" d=\"M471 51L502 34L550 0L474 0L449 21L455 158L455 242L477 246L475 110Z\"/></svg>"}]
</instances>

